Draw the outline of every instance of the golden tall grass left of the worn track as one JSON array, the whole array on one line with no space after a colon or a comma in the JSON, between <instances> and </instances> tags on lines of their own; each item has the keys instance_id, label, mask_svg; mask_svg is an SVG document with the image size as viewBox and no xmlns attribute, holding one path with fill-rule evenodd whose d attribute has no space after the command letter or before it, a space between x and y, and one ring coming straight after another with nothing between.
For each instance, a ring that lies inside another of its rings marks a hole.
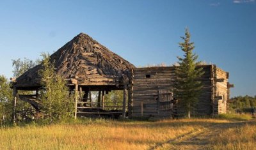
<instances>
[{"instance_id":1,"label":"golden tall grass left of the worn track","mask_svg":"<svg viewBox=\"0 0 256 150\"><path fill-rule=\"evenodd\" d=\"M0 149L147 149L202 128L209 120L77 121L49 126L1 128Z\"/></svg>"}]
</instances>

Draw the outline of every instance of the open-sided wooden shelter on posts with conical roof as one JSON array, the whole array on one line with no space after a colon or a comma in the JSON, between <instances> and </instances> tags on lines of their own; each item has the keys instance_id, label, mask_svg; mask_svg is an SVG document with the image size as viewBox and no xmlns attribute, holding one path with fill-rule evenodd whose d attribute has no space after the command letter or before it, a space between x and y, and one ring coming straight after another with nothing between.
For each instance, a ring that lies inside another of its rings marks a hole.
<instances>
[{"instance_id":1,"label":"open-sided wooden shelter on posts with conical roof","mask_svg":"<svg viewBox=\"0 0 256 150\"><path fill-rule=\"evenodd\" d=\"M104 96L112 90L127 91L129 84L129 70L134 69L134 65L111 52L87 34L78 34L74 39L68 41L57 52L51 55L51 62L54 63L56 74L64 77L68 82L70 91L75 91L76 114L120 114L125 117L127 107L124 96L124 107L120 112L109 112L104 110ZM16 101L19 100L30 103L35 110L40 109L38 91L42 87L42 82L38 71L42 64L31 68L21 75L17 80L13 80L13 114L16 114ZM18 91L35 91L33 95L19 95ZM98 91L99 98L97 105L93 105L91 91ZM15 115L13 120L15 120Z\"/></svg>"}]
</instances>

